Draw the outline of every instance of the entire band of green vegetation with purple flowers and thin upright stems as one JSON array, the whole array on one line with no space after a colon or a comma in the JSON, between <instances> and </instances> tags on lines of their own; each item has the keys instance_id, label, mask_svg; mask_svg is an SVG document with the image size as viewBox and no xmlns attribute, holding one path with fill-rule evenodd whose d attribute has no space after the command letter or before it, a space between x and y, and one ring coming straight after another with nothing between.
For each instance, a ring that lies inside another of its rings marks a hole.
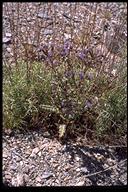
<instances>
[{"instance_id":1,"label":"entire band of green vegetation with purple flowers and thin upright stems","mask_svg":"<svg viewBox=\"0 0 128 192\"><path fill-rule=\"evenodd\" d=\"M72 16L77 9L76 5L70 4ZM53 10L56 14L55 7ZM70 18L70 38L65 39L63 31L59 44L59 34L54 33L50 44L40 48L32 45L26 48L23 43L25 57L19 56L18 49L17 54L13 49L16 65L3 62L5 129L46 126L50 131L56 128L60 138L78 133L91 139L126 135L127 67L125 51L121 51L126 49L125 43L118 47L120 54L112 53L115 49L112 42L119 36L119 30L115 31L110 49L108 44L106 48L105 43L99 43L108 38L104 27L111 15L107 18L107 13L102 18L104 26L101 26L100 41L97 35L93 37L97 30L97 12L96 4L93 14L88 14L87 28L83 27L79 36L74 33L74 20ZM120 29L125 24L121 21L120 18ZM56 31L55 23L57 21L53 23L53 32ZM38 29L39 41L41 28ZM20 34L19 39L23 33L20 31ZM33 52L28 54L28 47L33 50L34 57Z\"/></svg>"}]
</instances>

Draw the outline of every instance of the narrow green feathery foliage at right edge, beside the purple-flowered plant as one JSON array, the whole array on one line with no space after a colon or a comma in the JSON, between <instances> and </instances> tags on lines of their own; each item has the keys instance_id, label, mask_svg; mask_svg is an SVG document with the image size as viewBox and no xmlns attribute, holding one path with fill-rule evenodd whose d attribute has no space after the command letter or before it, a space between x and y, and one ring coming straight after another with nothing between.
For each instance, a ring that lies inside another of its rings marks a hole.
<instances>
[{"instance_id":1,"label":"narrow green feathery foliage at right edge, beside the purple-flowered plant","mask_svg":"<svg viewBox=\"0 0 128 192\"><path fill-rule=\"evenodd\" d=\"M121 63L119 77L113 80L113 87L100 100L96 129L98 136L104 133L126 134L127 131L127 69Z\"/></svg>"}]
</instances>

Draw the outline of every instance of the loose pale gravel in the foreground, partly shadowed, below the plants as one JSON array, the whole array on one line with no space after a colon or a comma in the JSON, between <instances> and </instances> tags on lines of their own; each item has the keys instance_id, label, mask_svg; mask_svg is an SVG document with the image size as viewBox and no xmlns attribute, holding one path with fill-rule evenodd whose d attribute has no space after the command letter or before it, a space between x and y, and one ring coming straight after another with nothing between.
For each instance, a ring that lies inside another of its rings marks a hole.
<instances>
[{"instance_id":1,"label":"loose pale gravel in the foreground, partly shadowed, below the plants","mask_svg":"<svg viewBox=\"0 0 128 192\"><path fill-rule=\"evenodd\" d=\"M127 185L125 148L61 145L41 131L3 134L3 146L3 183L8 186Z\"/></svg>"}]
</instances>

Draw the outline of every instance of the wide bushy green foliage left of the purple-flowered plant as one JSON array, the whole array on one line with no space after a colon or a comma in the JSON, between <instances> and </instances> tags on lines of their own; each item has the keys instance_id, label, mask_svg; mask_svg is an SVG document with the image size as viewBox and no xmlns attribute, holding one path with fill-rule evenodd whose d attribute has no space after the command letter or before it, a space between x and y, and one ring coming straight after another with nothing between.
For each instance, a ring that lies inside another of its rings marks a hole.
<instances>
[{"instance_id":1,"label":"wide bushy green foliage left of the purple-flowered plant","mask_svg":"<svg viewBox=\"0 0 128 192\"><path fill-rule=\"evenodd\" d=\"M32 64L29 82L24 62L18 70L7 66L3 71L3 114L5 128L20 128L27 117L38 116L41 104L51 104L51 74L41 63ZM31 125L30 125L31 126Z\"/></svg>"}]
</instances>

